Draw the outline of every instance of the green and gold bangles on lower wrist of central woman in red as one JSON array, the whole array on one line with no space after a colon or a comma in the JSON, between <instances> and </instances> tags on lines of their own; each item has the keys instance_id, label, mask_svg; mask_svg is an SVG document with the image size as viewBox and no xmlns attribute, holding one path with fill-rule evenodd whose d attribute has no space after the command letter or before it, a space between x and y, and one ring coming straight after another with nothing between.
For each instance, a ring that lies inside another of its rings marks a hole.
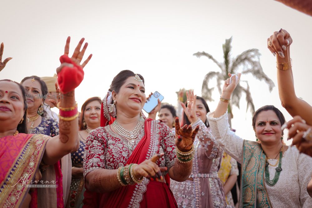
<instances>
[{"instance_id":1,"label":"green and gold bangles on lower wrist of central woman in red","mask_svg":"<svg viewBox=\"0 0 312 208\"><path fill-rule=\"evenodd\" d=\"M117 170L117 180L121 186L134 185L136 183L141 183L143 181L143 177L137 179L134 176L134 167L138 164L131 163L130 165L126 165L123 167L119 167Z\"/></svg>"}]
</instances>

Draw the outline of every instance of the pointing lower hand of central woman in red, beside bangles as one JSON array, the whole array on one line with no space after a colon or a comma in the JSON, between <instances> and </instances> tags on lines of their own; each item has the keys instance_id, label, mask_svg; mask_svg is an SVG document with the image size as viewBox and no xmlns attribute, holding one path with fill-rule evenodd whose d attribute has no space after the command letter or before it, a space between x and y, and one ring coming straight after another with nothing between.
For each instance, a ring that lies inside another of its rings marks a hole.
<instances>
[{"instance_id":1,"label":"pointing lower hand of central woman in red, beside bangles","mask_svg":"<svg viewBox=\"0 0 312 208\"><path fill-rule=\"evenodd\" d=\"M148 179L153 178L158 181L163 179L161 172L167 170L167 167L158 167L156 164L160 157L163 157L164 153L158 153L154 155L151 159L141 162L134 167L133 172L136 178L146 177Z\"/></svg>"}]
</instances>

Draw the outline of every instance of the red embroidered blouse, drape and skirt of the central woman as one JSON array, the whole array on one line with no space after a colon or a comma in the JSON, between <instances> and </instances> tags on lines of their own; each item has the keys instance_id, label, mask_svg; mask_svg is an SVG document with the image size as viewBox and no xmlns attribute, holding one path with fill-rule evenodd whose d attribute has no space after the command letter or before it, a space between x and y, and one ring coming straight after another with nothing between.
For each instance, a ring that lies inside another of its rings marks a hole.
<instances>
[{"instance_id":1,"label":"red embroidered blouse, drape and skirt of the central woman","mask_svg":"<svg viewBox=\"0 0 312 208\"><path fill-rule=\"evenodd\" d=\"M173 166L175 161L174 135L159 120L146 119L134 147L114 133L110 126L93 130L87 138L84 158L84 177L99 168L118 169L129 163L141 163L157 153L165 155L157 161L159 167ZM167 172L163 172L163 175ZM136 185L121 187L108 193L85 191L84 207L177 207L168 185L144 178Z\"/></svg>"}]
</instances>

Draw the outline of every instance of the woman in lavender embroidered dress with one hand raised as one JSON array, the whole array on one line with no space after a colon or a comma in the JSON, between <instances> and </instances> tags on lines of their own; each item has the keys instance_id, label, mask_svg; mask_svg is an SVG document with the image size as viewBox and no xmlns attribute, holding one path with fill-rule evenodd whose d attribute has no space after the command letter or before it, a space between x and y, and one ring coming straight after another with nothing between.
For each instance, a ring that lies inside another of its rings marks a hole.
<instances>
[{"instance_id":1,"label":"woman in lavender embroidered dress with one hand raised","mask_svg":"<svg viewBox=\"0 0 312 208\"><path fill-rule=\"evenodd\" d=\"M196 101L194 103L196 107L192 107L190 102L187 109L184 106L187 115L192 114L188 110L193 109L193 119L190 118L190 120L195 120L195 122L192 123L192 128L199 125L194 141L195 157L192 173L184 182L171 180L170 189L178 207L226 207L222 182L218 178L223 152L203 123L206 123L206 114L209 112L207 103L200 97L195 98L194 101Z\"/></svg>"}]
</instances>

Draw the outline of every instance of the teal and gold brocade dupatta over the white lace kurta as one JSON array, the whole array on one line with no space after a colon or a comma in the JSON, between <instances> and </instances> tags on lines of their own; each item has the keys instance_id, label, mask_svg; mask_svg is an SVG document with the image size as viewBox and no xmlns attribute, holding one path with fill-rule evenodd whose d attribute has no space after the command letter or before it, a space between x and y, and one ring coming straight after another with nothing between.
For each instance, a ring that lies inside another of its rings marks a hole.
<instances>
[{"instance_id":1,"label":"teal and gold brocade dupatta over the white lace kurta","mask_svg":"<svg viewBox=\"0 0 312 208\"><path fill-rule=\"evenodd\" d=\"M239 207L271 208L263 177L265 159L266 156L259 143L244 140Z\"/></svg>"}]
</instances>

